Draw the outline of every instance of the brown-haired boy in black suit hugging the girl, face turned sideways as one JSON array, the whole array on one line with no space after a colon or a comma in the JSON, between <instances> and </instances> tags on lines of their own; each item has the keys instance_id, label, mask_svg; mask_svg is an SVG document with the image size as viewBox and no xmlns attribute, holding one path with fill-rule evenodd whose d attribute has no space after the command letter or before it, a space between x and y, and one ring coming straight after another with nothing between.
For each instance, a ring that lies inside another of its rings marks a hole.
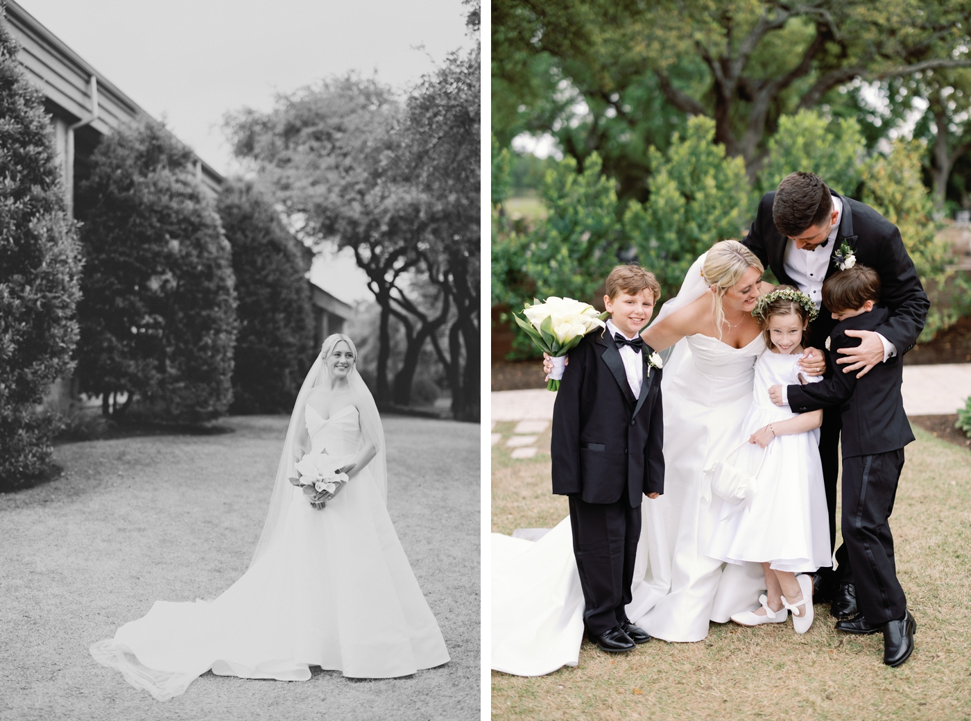
<instances>
[{"instance_id":1,"label":"brown-haired boy in black suit hugging the girl, face turned sideways","mask_svg":"<svg viewBox=\"0 0 971 721\"><path fill-rule=\"evenodd\" d=\"M880 276L864 265L833 275L822 286L822 302L839 323L826 347L834 367L842 348L859 345L847 330L873 330L887 323L880 300ZM862 378L834 373L821 383L773 386L776 403L795 413L839 406L843 425L843 540L850 555L860 613L838 621L851 634L884 632L884 663L900 666L914 650L917 625L897 580L893 537L887 519L893 510L904 464L904 446L914 440L904 413L900 385L903 359L878 363Z\"/></svg>"}]
</instances>

